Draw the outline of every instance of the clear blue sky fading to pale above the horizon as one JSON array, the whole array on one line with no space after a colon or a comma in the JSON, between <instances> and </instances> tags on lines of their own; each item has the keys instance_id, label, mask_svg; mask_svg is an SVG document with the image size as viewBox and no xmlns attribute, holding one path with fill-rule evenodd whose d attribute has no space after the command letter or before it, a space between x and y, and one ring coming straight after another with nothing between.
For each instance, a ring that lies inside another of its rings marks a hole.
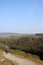
<instances>
[{"instance_id":1,"label":"clear blue sky fading to pale above the horizon","mask_svg":"<svg viewBox=\"0 0 43 65\"><path fill-rule=\"evenodd\" d=\"M43 0L0 0L0 32L43 33Z\"/></svg>"}]
</instances>

